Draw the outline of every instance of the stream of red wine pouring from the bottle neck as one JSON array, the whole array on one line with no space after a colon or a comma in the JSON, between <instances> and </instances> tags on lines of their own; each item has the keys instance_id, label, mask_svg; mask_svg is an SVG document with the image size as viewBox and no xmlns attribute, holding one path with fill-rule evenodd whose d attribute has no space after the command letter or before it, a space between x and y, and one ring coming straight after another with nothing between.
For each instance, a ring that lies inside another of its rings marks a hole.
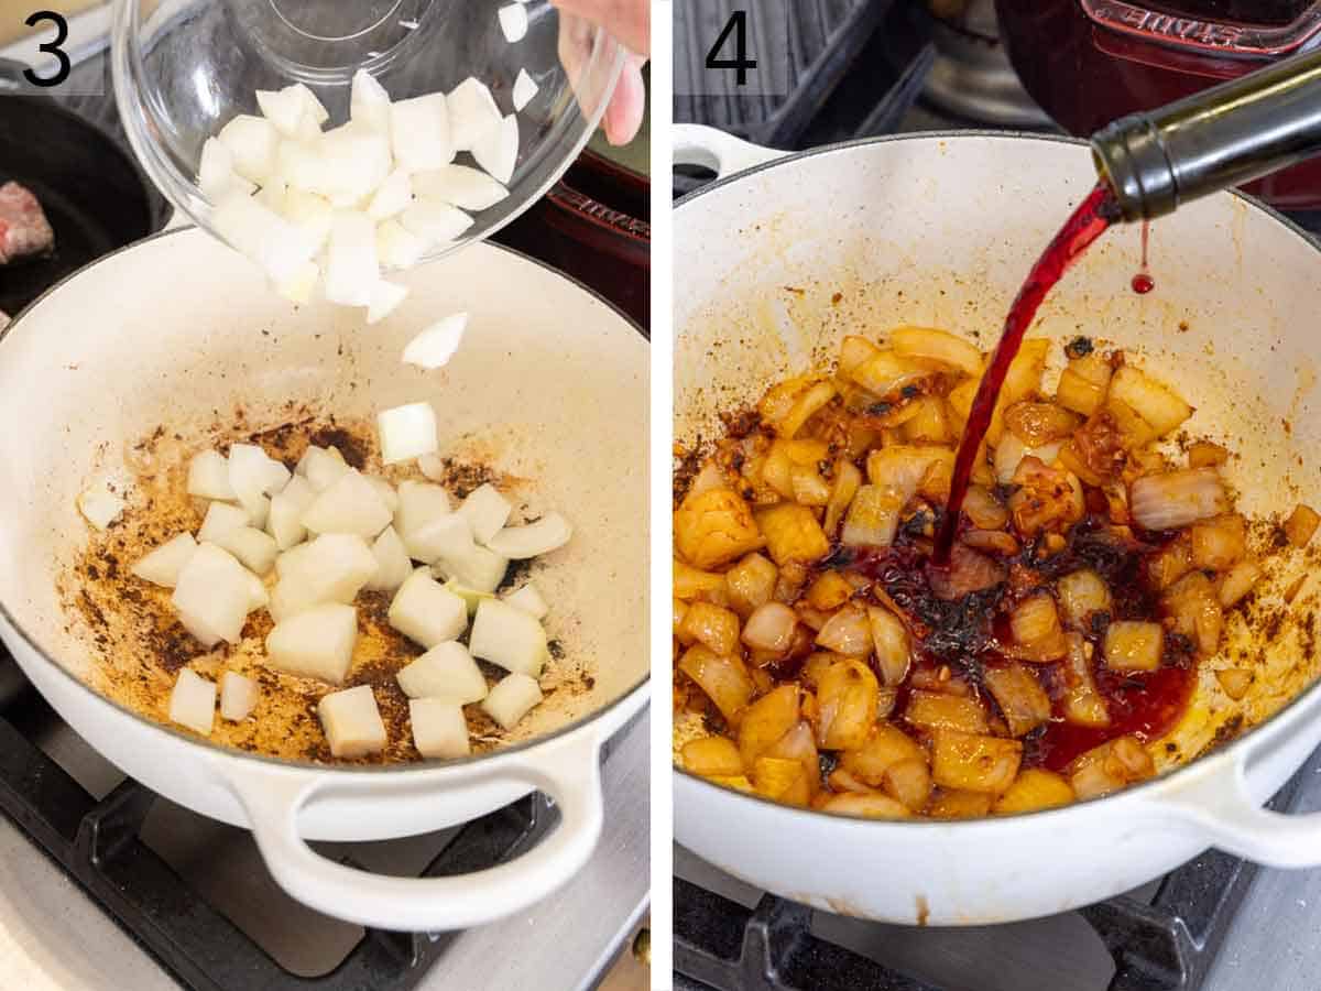
<instances>
[{"instance_id":1,"label":"stream of red wine pouring from the bottle neck","mask_svg":"<svg viewBox=\"0 0 1321 991\"><path fill-rule=\"evenodd\" d=\"M941 531L935 538L935 554L931 559L935 567L946 567L950 563L950 550L954 547L954 535L959 527L963 497L967 494L972 468L976 465L978 452L982 449L982 439L985 437L987 428L991 425L995 404L1000 398L1000 386L1004 385L1004 377L1009 373L1009 365L1018 353L1018 345L1022 344L1028 326L1037 316L1037 308L1041 307L1046 293L1069 271L1069 267L1087 250L1087 246L1104 234L1106 229L1118 219L1119 205L1114 196L1104 182L1096 184L1096 188L1055 234L1054 240L1032 267L1022 288L1018 289L1018 295L1009 308L1009 316L1005 317L1000 344L996 345L995 354L991 355L991 365L987 366L982 385L978 386L978 394L972 399L968 425L963 428L963 440L959 441L959 453L954 461L950 501L945 509Z\"/></svg>"}]
</instances>

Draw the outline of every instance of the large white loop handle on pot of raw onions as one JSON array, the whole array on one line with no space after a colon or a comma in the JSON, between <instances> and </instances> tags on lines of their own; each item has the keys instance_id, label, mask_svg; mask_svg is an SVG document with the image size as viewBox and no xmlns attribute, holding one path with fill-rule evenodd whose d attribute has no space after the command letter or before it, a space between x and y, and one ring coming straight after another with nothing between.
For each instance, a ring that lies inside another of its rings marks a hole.
<instances>
[{"instance_id":1,"label":"large white loop handle on pot of raw onions","mask_svg":"<svg viewBox=\"0 0 1321 991\"><path fill-rule=\"evenodd\" d=\"M601 760L594 733L564 740L535 761L502 761L485 776L468 778L469 784L527 785L555 799L560 810L559 825L530 851L474 873L390 877L314 852L299 835L299 811L333 778L308 782L303 776L280 773L279 768L254 773L251 766L226 776L276 883L303 904L363 926L443 932L514 914L573 877L601 835ZM363 801L370 798L365 795Z\"/></svg>"}]
</instances>

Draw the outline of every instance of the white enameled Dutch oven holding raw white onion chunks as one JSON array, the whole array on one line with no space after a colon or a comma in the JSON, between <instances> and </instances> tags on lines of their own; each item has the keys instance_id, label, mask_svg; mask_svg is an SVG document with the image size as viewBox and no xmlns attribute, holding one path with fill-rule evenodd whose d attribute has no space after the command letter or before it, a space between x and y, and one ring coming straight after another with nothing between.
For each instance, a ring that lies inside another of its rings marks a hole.
<instances>
[{"instance_id":1,"label":"white enameled Dutch oven holding raw white onion chunks","mask_svg":"<svg viewBox=\"0 0 1321 991\"><path fill-rule=\"evenodd\" d=\"M597 842L601 744L646 703L647 346L589 292L490 244L400 277L410 299L366 328L361 311L291 307L250 263L190 229L102 258L15 320L0 340L0 636L55 711L127 774L251 828L293 897L420 932L530 905ZM472 321L445 370L400 363L413 334L457 311ZM90 477L123 468L156 424L192 436L235 406L262 425L283 423L289 400L351 419L424 399L443 448L489 439L495 464L532 480L538 498L575 522L538 581L553 604L552 636L592 673L585 691L548 695L519 727L526 739L486 756L359 768L225 749L89 687L98 649L55 583L87 540L75 498ZM560 823L477 873L378 876L306 844L439 830L531 789L555 799Z\"/></svg>"}]
</instances>

